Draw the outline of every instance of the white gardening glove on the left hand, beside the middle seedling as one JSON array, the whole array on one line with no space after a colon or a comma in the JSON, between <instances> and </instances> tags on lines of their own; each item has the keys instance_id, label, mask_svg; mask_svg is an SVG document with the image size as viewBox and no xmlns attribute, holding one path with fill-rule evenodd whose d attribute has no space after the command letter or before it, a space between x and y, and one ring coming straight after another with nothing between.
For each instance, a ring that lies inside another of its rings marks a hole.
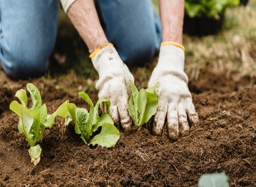
<instances>
[{"instance_id":1,"label":"white gardening glove on the left hand, beside the middle seedling","mask_svg":"<svg viewBox=\"0 0 256 187\"><path fill-rule=\"evenodd\" d=\"M121 121L123 129L129 129L131 118L127 111L127 103L131 94L129 80L134 82L133 75L111 43L99 47L90 58L99 74L96 83L98 97L105 97L111 102L110 108L102 104L102 111L109 113L116 124Z\"/></svg>"}]
</instances>

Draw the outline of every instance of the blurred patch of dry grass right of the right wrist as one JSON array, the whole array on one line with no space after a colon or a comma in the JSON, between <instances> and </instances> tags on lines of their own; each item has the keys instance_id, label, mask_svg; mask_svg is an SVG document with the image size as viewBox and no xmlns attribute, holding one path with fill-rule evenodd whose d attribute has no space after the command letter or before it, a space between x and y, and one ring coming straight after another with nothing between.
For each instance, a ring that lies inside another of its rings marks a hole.
<instances>
[{"instance_id":1,"label":"blurred patch of dry grass right of the right wrist","mask_svg":"<svg viewBox=\"0 0 256 187\"><path fill-rule=\"evenodd\" d=\"M185 71L197 80L206 67L226 72L227 78L256 78L256 3L226 10L223 29L215 36L202 38L184 35Z\"/></svg>"}]
</instances>

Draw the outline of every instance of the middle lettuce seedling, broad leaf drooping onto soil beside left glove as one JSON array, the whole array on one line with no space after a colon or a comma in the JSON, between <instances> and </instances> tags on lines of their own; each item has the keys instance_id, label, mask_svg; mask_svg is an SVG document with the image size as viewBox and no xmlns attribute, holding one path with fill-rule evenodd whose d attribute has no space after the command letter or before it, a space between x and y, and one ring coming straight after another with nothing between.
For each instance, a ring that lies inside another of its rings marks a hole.
<instances>
[{"instance_id":1,"label":"middle lettuce seedling, broad leaf drooping onto soil beside left glove","mask_svg":"<svg viewBox=\"0 0 256 187\"><path fill-rule=\"evenodd\" d=\"M98 144L106 148L113 147L119 140L119 131L107 113L98 115L99 104L105 102L110 106L110 101L101 97L94 107L93 101L85 92L79 92L78 95L90 105L90 110L88 112L85 108L77 108L73 103L66 103L67 111L69 111L66 125L70 121L74 121L75 133L81 135L81 139L86 145ZM94 136L99 127L101 127L101 132Z\"/></svg>"}]
</instances>

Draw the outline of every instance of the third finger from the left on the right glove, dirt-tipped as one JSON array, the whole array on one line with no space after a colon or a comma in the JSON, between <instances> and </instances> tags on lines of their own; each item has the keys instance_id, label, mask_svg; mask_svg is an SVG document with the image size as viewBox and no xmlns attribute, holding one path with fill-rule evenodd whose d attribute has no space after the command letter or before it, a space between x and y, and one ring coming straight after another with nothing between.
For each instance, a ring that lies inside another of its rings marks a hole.
<instances>
[{"instance_id":1,"label":"third finger from the left on the right glove, dirt-tipped","mask_svg":"<svg viewBox=\"0 0 256 187\"><path fill-rule=\"evenodd\" d=\"M186 108L182 103L178 105L179 133L181 136L189 135L189 122L187 121Z\"/></svg>"}]
</instances>

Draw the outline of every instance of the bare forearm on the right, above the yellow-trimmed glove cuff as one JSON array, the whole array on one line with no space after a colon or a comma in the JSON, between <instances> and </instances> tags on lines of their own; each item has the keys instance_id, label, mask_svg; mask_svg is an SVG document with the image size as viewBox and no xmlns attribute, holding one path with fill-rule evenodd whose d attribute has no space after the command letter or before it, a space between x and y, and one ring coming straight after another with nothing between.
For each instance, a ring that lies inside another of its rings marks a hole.
<instances>
[{"instance_id":1,"label":"bare forearm on the right, above the yellow-trimmed glove cuff","mask_svg":"<svg viewBox=\"0 0 256 187\"><path fill-rule=\"evenodd\" d=\"M158 0L162 22L162 42L182 44L184 0Z\"/></svg>"}]
</instances>

